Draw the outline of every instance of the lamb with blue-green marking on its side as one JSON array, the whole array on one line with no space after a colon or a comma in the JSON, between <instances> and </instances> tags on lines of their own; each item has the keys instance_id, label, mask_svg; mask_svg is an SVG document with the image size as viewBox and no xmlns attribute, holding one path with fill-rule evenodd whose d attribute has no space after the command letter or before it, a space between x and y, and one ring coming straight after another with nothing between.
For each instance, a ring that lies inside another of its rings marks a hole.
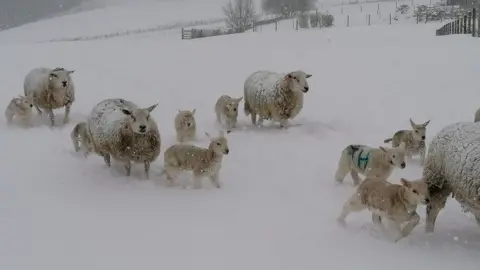
<instances>
[{"instance_id":1,"label":"lamb with blue-green marking on its side","mask_svg":"<svg viewBox=\"0 0 480 270\"><path fill-rule=\"evenodd\" d=\"M353 184L360 183L358 174L366 178L386 180L395 167L405 169L405 143L401 142L398 147L372 148L366 145L348 145L340 156L335 180L343 183L345 176L350 172Z\"/></svg>"}]
</instances>

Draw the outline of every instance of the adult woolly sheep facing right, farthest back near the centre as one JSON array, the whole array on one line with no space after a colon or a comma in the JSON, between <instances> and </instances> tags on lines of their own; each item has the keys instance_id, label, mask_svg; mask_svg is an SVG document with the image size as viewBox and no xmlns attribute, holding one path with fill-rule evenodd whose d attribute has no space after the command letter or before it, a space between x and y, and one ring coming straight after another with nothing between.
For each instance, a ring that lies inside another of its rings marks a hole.
<instances>
[{"instance_id":1,"label":"adult woolly sheep facing right, farthest back near the centre","mask_svg":"<svg viewBox=\"0 0 480 270\"><path fill-rule=\"evenodd\" d=\"M252 124L263 124L264 119L279 122L287 127L303 108L303 94L308 92L307 79L312 75L301 70L279 74L266 70L252 73L244 84L244 112Z\"/></svg>"}]
</instances>

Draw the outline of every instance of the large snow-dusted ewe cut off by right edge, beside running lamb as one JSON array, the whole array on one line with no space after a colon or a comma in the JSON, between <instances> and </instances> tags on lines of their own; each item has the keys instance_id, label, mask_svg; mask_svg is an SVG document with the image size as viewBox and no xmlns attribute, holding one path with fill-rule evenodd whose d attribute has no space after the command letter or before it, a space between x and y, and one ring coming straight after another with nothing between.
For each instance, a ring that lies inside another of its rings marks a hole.
<instances>
[{"instance_id":1,"label":"large snow-dusted ewe cut off by right edge, beside running lamb","mask_svg":"<svg viewBox=\"0 0 480 270\"><path fill-rule=\"evenodd\" d=\"M444 127L428 150L423 178L430 192L425 230L435 220L450 194L471 212L480 225L480 124L458 122Z\"/></svg>"}]
</instances>

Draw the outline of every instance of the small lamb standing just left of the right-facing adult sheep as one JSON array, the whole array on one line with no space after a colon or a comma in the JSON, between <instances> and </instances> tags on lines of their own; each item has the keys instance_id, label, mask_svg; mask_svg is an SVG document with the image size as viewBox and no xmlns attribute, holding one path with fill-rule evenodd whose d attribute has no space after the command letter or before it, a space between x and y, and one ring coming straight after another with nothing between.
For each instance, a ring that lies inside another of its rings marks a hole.
<instances>
[{"instance_id":1,"label":"small lamb standing just left of the right-facing adult sheep","mask_svg":"<svg viewBox=\"0 0 480 270\"><path fill-rule=\"evenodd\" d=\"M227 133L230 133L237 125L238 118L238 103L243 97L232 98L229 95L223 95L218 98L215 103L215 114L217 115L217 122L224 125L227 128Z\"/></svg>"}]
</instances>

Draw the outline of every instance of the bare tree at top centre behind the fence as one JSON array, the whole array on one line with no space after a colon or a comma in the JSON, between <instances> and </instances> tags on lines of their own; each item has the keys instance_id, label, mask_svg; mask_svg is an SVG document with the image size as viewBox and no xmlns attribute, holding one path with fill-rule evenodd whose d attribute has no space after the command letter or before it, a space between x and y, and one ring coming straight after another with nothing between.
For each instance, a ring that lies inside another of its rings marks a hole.
<instances>
[{"instance_id":1,"label":"bare tree at top centre behind the fence","mask_svg":"<svg viewBox=\"0 0 480 270\"><path fill-rule=\"evenodd\" d=\"M252 0L231 0L222 10L227 16L226 24L228 28L244 32L253 22L255 11Z\"/></svg>"}]
</instances>

